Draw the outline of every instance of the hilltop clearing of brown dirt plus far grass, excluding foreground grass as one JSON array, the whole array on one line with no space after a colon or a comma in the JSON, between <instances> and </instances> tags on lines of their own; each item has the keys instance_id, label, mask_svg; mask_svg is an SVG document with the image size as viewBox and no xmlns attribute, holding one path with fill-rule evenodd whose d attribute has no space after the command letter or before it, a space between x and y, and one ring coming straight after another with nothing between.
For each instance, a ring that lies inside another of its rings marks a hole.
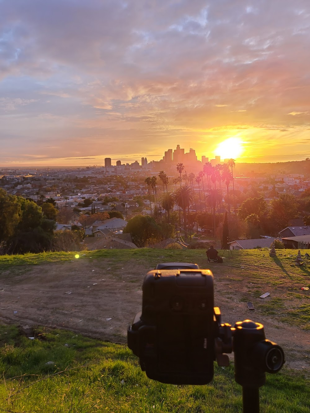
<instances>
[{"instance_id":1,"label":"hilltop clearing of brown dirt plus far grass, excluding foreground grass","mask_svg":"<svg viewBox=\"0 0 310 413\"><path fill-rule=\"evenodd\" d=\"M223 264L207 263L203 250L98 250L0 256L1 320L31 335L33 326L66 328L112 342L126 342L127 325L141 309L145 274L159 262L196 262L215 277L215 306L222 322L250 318L280 344L287 365L310 367L310 263L296 267L297 252L234 251ZM266 299L258 298L270 292ZM247 309L253 302L255 311Z\"/></svg>"}]
</instances>

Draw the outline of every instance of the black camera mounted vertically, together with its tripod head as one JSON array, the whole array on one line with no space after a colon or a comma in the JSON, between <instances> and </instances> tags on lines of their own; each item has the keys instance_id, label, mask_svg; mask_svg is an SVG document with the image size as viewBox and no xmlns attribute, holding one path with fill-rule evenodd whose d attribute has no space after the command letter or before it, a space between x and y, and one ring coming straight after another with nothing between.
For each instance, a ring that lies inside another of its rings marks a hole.
<instances>
[{"instance_id":1,"label":"black camera mounted vertically, together with its tripod head","mask_svg":"<svg viewBox=\"0 0 310 413\"><path fill-rule=\"evenodd\" d=\"M142 311L128 328L127 343L150 379L203 385L213 378L214 361L228 366L227 354L234 351L236 382L258 389L265 372L283 365L283 350L265 338L262 324L244 320L232 328L221 322L210 270L153 270L142 289Z\"/></svg>"}]
</instances>

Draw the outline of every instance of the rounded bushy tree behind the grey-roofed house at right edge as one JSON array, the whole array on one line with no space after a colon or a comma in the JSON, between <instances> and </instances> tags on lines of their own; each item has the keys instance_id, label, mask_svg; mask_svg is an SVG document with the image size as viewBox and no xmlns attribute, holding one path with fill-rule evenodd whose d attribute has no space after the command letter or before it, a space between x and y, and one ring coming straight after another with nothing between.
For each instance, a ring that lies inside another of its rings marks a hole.
<instances>
[{"instance_id":1,"label":"rounded bushy tree behind the grey-roofed house at right edge","mask_svg":"<svg viewBox=\"0 0 310 413\"><path fill-rule=\"evenodd\" d=\"M277 225L279 230L290 225L291 220L296 218L298 204L296 197L290 194L280 195L278 199L270 201L269 216Z\"/></svg>"}]
</instances>

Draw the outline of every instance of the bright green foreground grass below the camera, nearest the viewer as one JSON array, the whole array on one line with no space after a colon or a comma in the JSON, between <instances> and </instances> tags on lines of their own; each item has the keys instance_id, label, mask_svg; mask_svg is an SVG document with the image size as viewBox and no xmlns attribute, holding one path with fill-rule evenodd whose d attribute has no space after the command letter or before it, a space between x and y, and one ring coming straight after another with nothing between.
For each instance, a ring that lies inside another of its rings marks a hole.
<instances>
[{"instance_id":1,"label":"bright green foreground grass below the camera, nearest the viewer","mask_svg":"<svg viewBox=\"0 0 310 413\"><path fill-rule=\"evenodd\" d=\"M242 411L233 366L216 367L205 386L167 385L148 379L125 345L64 330L32 334L29 339L15 326L0 326L0 412ZM308 377L285 368L267 375L260 405L266 413L308 412Z\"/></svg>"}]
</instances>

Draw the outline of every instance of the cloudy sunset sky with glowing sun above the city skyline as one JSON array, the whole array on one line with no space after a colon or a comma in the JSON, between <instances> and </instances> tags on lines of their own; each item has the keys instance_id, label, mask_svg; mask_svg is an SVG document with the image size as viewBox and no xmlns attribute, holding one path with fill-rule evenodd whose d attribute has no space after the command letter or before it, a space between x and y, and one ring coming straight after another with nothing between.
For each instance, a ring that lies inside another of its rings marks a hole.
<instances>
[{"instance_id":1,"label":"cloudy sunset sky with glowing sun above the city skyline","mask_svg":"<svg viewBox=\"0 0 310 413\"><path fill-rule=\"evenodd\" d=\"M309 45L309 0L0 0L0 166L303 160Z\"/></svg>"}]
</instances>

